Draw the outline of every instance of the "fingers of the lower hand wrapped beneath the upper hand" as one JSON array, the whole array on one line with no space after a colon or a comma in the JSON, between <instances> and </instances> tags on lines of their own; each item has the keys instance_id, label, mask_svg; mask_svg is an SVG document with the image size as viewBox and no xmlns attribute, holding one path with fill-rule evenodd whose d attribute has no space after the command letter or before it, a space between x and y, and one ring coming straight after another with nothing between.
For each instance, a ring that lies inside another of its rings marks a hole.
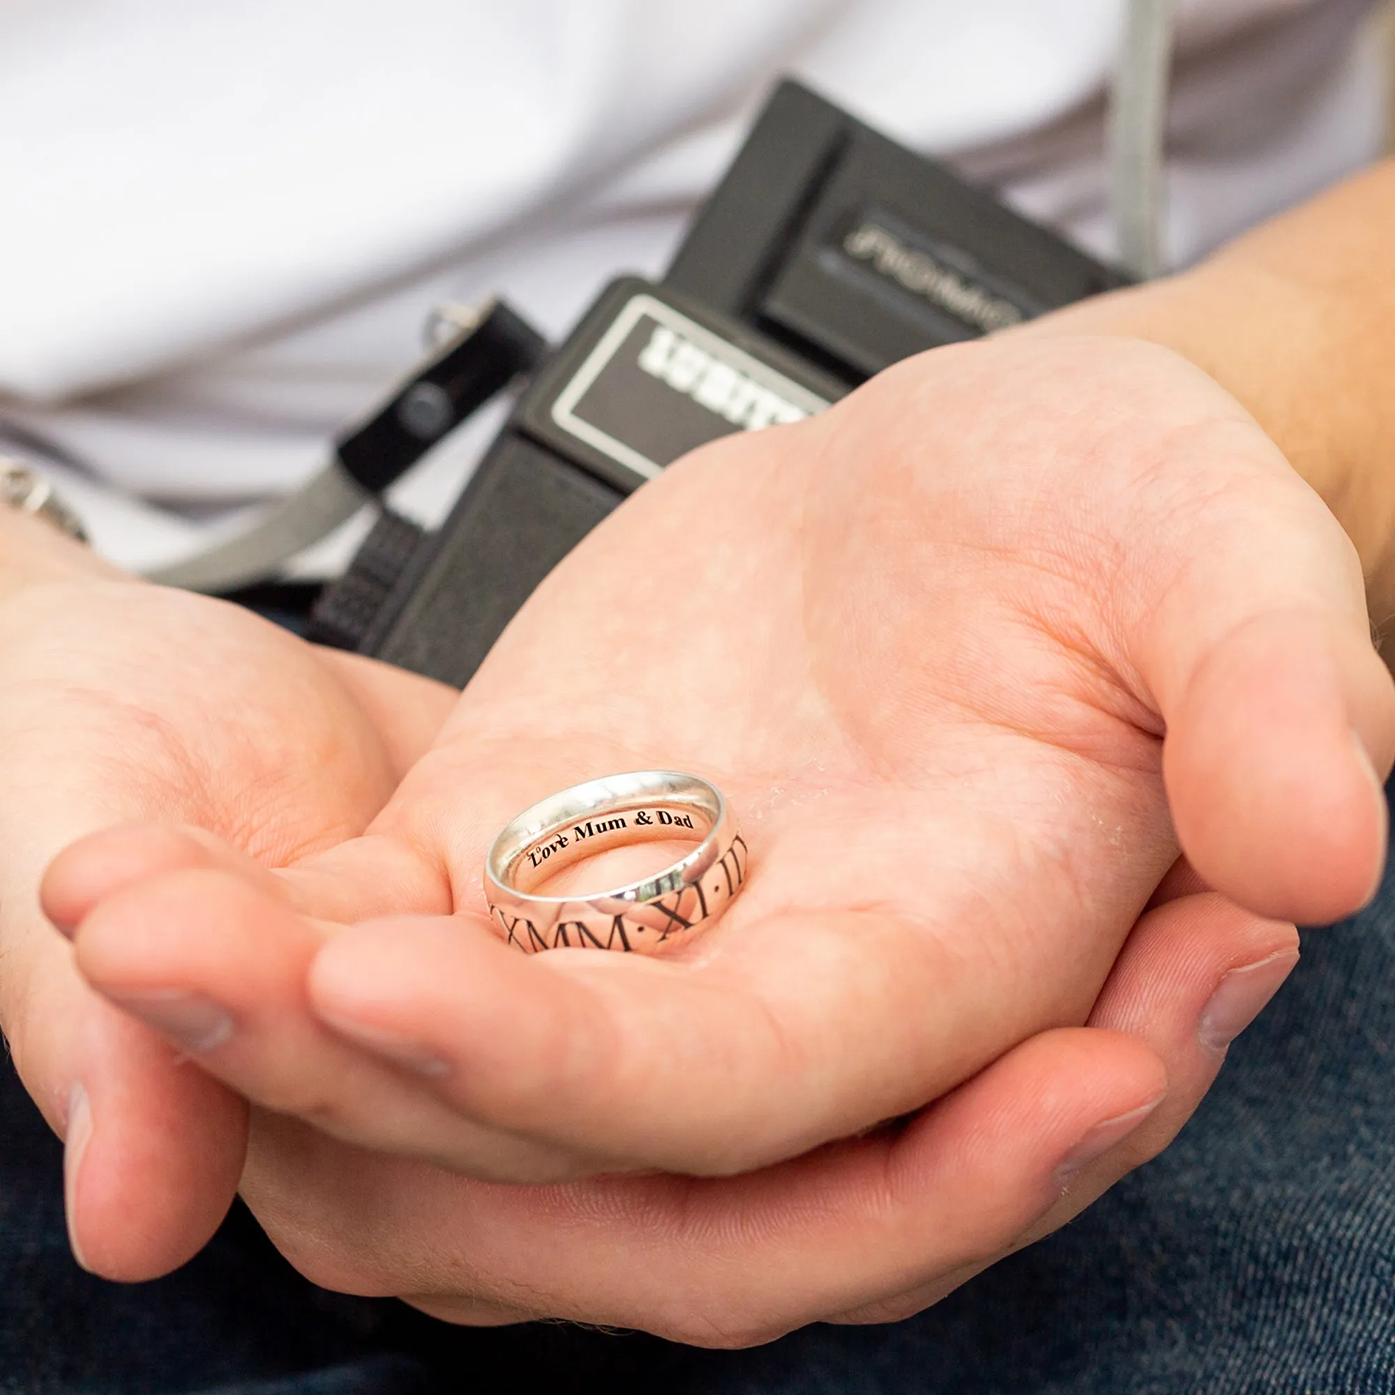
<instances>
[{"instance_id":1,"label":"fingers of the lower hand wrapped beneath the upper hand","mask_svg":"<svg viewBox=\"0 0 1395 1395\"><path fill-rule=\"evenodd\" d=\"M186 838L183 861L208 866L208 844ZM138 859L126 876L141 880ZM1039 1034L914 1119L792 1162L501 1186L254 1109L241 1191L315 1282L455 1322L572 1318L744 1346L820 1318L904 1317L1156 1154L1297 958L1292 926L1197 891L1186 868L1156 903L1088 1030Z\"/></svg>"}]
</instances>

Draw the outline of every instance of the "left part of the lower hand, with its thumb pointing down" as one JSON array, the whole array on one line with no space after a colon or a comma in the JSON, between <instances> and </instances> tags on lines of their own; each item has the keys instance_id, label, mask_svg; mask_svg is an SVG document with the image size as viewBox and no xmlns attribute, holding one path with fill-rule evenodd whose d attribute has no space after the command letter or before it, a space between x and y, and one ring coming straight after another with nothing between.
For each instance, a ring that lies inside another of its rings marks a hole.
<instances>
[{"instance_id":1,"label":"left part of the lower hand, with its thumb pointing down","mask_svg":"<svg viewBox=\"0 0 1395 1395\"><path fill-rule=\"evenodd\" d=\"M24 541L43 564L0 600L0 1024L67 1136L75 1249L109 1276L149 1278L227 1209L247 1106L82 982L39 908L45 868L130 822L204 831L144 840L128 872L159 870L190 838L266 865L336 845L382 809L453 693L121 578L38 526Z\"/></svg>"}]
</instances>

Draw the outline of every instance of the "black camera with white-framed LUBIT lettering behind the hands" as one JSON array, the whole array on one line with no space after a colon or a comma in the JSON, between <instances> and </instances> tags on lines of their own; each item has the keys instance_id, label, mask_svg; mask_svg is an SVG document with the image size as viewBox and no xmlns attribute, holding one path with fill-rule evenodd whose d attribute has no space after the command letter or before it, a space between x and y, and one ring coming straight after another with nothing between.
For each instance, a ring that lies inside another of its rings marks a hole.
<instances>
[{"instance_id":1,"label":"black camera with white-framed LUBIT lettering behind the hands","mask_svg":"<svg viewBox=\"0 0 1395 1395\"><path fill-rule=\"evenodd\" d=\"M784 82L664 279L601 293L442 527L420 537L386 515L312 636L463 686L538 582L681 455L1124 283Z\"/></svg>"}]
</instances>

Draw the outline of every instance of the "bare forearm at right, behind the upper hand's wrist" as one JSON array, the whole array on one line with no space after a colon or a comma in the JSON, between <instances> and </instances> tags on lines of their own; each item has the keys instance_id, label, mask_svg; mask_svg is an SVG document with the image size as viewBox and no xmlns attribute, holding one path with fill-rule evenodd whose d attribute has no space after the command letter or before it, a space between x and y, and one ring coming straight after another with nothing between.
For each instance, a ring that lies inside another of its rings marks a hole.
<instances>
[{"instance_id":1,"label":"bare forearm at right, behind the upper hand's wrist","mask_svg":"<svg viewBox=\"0 0 1395 1395\"><path fill-rule=\"evenodd\" d=\"M1027 332L1149 339L1257 417L1355 541L1371 619L1395 618L1395 162L1151 286Z\"/></svg>"}]
</instances>

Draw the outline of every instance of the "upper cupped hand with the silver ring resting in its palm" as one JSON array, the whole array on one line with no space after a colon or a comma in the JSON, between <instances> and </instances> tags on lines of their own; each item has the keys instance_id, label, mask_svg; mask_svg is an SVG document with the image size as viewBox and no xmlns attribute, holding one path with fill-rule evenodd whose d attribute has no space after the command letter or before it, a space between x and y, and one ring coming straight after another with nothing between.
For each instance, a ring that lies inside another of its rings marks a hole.
<instances>
[{"instance_id":1,"label":"upper cupped hand with the silver ring resting in its palm","mask_svg":"<svg viewBox=\"0 0 1395 1395\"><path fill-rule=\"evenodd\" d=\"M1359 905L1392 707L1346 537L1226 393L1141 343L1004 339L640 491L364 837L112 894L98 841L50 910L102 992L352 1143L727 1175L1085 1021L1179 836L1250 912ZM650 766L727 792L742 897L667 958L505 949L494 831Z\"/></svg>"}]
</instances>

